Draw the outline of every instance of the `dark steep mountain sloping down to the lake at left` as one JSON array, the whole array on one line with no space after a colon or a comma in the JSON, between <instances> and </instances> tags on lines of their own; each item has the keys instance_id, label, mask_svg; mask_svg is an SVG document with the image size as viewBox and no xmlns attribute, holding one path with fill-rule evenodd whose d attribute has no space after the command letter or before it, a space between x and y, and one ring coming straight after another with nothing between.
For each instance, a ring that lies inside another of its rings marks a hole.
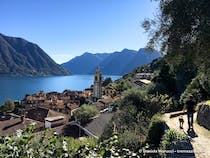
<instances>
[{"instance_id":1,"label":"dark steep mountain sloping down to the lake at left","mask_svg":"<svg viewBox=\"0 0 210 158\"><path fill-rule=\"evenodd\" d=\"M70 75L38 45L0 34L0 76Z\"/></svg>"}]
</instances>

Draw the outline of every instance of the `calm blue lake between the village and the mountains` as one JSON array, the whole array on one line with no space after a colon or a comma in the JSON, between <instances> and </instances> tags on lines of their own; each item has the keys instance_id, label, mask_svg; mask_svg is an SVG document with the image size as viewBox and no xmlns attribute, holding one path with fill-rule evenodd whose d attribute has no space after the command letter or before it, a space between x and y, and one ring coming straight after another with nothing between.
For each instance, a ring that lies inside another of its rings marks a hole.
<instances>
[{"instance_id":1,"label":"calm blue lake between the village and the mountains","mask_svg":"<svg viewBox=\"0 0 210 158\"><path fill-rule=\"evenodd\" d=\"M121 76L106 76L116 80ZM93 84L93 75L51 77L0 77L0 105L8 98L22 100L25 94L39 91L63 92L65 89L84 90Z\"/></svg>"}]
</instances>

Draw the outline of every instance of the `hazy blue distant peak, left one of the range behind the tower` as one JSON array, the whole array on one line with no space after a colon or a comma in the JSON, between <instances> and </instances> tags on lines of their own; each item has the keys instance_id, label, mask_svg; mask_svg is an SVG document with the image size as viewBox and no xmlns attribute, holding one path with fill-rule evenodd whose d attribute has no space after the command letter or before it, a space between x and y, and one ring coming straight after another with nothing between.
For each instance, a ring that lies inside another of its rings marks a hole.
<instances>
[{"instance_id":1,"label":"hazy blue distant peak, left one of the range behind the tower","mask_svg":"<svg viewBox=\"0 0 210 158\"><path fill-rule=\"evenodd\" d=\"M108 53L91 54L86 52L63 63L62 66L73 74L90 74L108 56Z\"/></svg>"}]
</instances>

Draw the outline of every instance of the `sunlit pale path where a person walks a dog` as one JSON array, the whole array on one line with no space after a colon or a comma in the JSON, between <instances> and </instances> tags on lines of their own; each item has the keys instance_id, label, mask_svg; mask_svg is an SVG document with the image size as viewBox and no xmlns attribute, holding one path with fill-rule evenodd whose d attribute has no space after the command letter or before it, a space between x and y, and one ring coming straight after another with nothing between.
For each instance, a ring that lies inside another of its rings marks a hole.
<instances>
[{"instance_id":1,"label":"sunlit pale path where a person walks a dog","mask_svg":"<svg viewBox=\"0 0 210 158\"><path fill-rule=\"evenodd\" d=\"M179 128L179 117L170 118L171 113L167 113L164 115L164 119L166 120L169 128L176 129L180 132L184 132L187 134L188 123L187 116L183 115L184 118L184 128ZM194 132L195 135L191 135L191 144L193 146L193 150L196 158L210 158L210 131L206 130L202 126L196 123L197 113L194 114Z\"/></svg>"}]
</instances>

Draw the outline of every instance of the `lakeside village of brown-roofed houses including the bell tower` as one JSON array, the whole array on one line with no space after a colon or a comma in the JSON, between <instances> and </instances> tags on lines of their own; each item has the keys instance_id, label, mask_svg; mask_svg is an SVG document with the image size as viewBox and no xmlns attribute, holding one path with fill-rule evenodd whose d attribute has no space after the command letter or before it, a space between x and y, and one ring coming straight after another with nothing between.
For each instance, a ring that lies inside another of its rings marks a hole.
<instances>
[{"instance_id":1,"label":"lakeside village of brown-roofed houses including the bell tower","mask_svg":"<svg viewBox=\"0 0 210 158\"><path fill-rule=\"evenodd\" d=\"M151 81L150 73L136 73L133 84L143 87ZM121 92L112 84L103 86L103 77L97 67L93 86L83 91L64 90L62 93L40 91L36 94L26 94L23 100L16 102L14 111L0 115L0 136L16 133L35 123L35 133L39 134L46 128L51 128L62 136L74 138L100 136L106 124L113 116L113 102L121 97ZM83 104L95 106L99 114L90 122L81 124L74 117Z\"/></svg>"}]
</instances>

